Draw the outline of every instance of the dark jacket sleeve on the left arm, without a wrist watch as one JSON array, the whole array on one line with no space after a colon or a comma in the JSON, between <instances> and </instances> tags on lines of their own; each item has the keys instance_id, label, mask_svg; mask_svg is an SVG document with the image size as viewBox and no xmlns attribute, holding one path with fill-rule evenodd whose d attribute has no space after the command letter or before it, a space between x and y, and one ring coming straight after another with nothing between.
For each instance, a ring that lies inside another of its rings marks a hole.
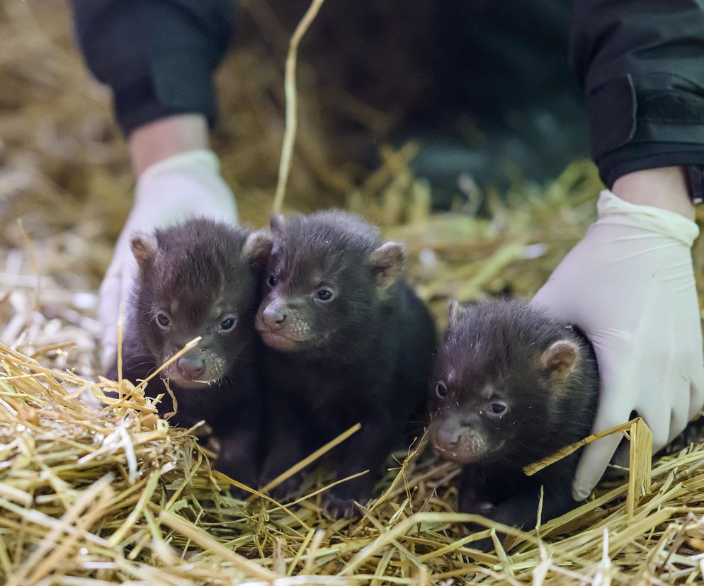
<instances>
[{"instance_id":1,"label":"dark jacket sleeve on the left arm, without a wrist watch","mask_svg":"<svg viewBox=\"0 0 704 586\"><path fill-rule=\"evenodd\" d=\"M233 0L71 0L79 47L113 89L125 135L147 122L203 113L234 27Z\"/></svg>"}]
</instances>

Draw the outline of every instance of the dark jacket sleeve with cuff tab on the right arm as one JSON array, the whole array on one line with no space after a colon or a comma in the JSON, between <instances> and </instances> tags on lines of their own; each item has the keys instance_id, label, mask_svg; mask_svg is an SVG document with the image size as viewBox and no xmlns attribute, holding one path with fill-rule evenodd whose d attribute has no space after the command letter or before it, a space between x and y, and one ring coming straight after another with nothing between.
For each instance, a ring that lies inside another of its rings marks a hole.
<instances>
[{"instance_id":1,"label":"dark jacket sleeve with cuff tab on the right arm","mask_svg":"<svg viewBox=\"0 0 704 586\"><path fill-rule=\"evenodd\" d=\"M704 165L704 0L577 0L570 51L606 185Z\"/></svg>"}]
</instances>

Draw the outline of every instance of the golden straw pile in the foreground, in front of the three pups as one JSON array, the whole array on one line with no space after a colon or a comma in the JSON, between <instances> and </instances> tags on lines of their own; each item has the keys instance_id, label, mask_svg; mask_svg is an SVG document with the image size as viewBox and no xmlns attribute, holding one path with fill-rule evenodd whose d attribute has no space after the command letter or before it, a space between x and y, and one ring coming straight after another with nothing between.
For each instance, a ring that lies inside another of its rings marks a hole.
<instances>
[{"instance_id":1,"label":"golden straw pile in the foreground, in front of the three pups","mask_svg":"<svg viewBox=\"0 0 704 586\"><path fill-rule=\"evenodd\" d=\"M55 352L56 350L45 350ZM704 444L659 459L632 516L628 485L472 550L453 511L458 470L419 449L396 454L380 498L331 522L312 478L290 503L229 497L186 430L141 389L94 383L0 345L0 575L8 585L692 583L704 569ZM103 389L123 396L106 398ZM88 391L110 403L79 399ZM404 457L405 456L405 457ZM549 542L541 544L538 536ZM498 541L497 541L498 546ZM290 578L289 578L290 577ZM455 580L457 580L455 582Z\"/></svg>"}]
</instances>

